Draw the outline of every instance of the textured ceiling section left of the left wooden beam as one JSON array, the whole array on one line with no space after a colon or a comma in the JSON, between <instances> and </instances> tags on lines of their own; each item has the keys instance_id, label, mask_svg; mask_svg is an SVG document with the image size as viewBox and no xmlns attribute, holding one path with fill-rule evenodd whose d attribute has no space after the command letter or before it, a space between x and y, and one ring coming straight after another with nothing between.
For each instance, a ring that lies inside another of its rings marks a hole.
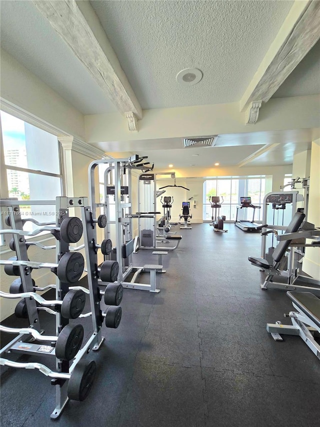
<instances>
[{"instance_id":1,"label":"textured ceiling section left of the left wooden beam","mask_svg":"<svg viewBox=\"0 0 320 427\"><path fill-rule=\"evenodd\" d=\"M1 48L82 114L117 111L30 1L0 1Z\"/></svg>"}]
</instances>

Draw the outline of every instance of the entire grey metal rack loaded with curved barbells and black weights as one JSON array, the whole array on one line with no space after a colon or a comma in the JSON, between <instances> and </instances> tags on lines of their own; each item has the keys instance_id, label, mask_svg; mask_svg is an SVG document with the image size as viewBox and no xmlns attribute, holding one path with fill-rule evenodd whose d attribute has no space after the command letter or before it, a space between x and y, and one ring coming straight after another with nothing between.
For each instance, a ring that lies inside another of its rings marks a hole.
<instances>
[{"instance_id":1,"label":"entire grey metal rack loaded with curved barbells and black weights","mask_svg":"<svg viewBox=\"0 0 320 427\"><path fill-rule=\"evenodd\" d=\"M55 224L39 223L32 218L27 220L20 216L20 205L54 205L56 213ZM69 217L69 208L79 208L81 219ZM0 260L5 264L8 274L19 275L14 280L14 286L10 286L11 294L0 292L0 297L22 298L17 304L16 312L28 318L29 327L13 329L0 326L7 333L16 336L0 350L0 364L16 368L38 369L41 373L51 378L51 384L55 385L55 408L50 417L56 419L60 416L69 399L82 401L87 396L93 385L95 375L95 362L84 360L83 356L90 350L96 351L100 348L104 337L101 336L102 322L107 327L116 328L121 319L121 307L119 303L122 298L121 285L111 283L105 292L99 290L98 278L100 269L97 268L97 249L105 246L96 244L95 226L104 227L105 217L100 216L97 220L92 218L92 211L85 197L57 197L55 201L18 201L17 199L0 200L0 209L8 213L5 223L9 227L0 230L1 234L13 236L10 241L10 249L14 249L16 257L10 262ZM30 220L39 228L37 231L25 232L23 225ZM26 242L24 236L33 236L42 230L49 231L56 238L55 246L45 247L38 242ZM81 235L80 235L81 234ZM69 247L70 243L77 242L80 237L83 244L79 247ZM36 245L42 249L53 249L56 252L56 264L39 263L28 260L27 248ZM111 242L107 242L110 246ZM76 286L84 268L84 259L78 250L84 248L88 289ZM105 248L102 249L105 251ZM82 261L83 259L83 261ZM11 265L10 265L11 264ZM44 288L35 286L31 278L32 268L47 267L56 274L55 285ZM102 272L108 270L103 264ZM116 267L116 266L114 266ZM105 274L105 273L104 273ZM111 275L107 277L112 281ZM119 289L119 287L121 287ZM35 294L36 290L55 288L55 300L47 301ZM107 291L108 289L108 291ZM14 295L16 294L16 295ZM101 294L104 294L104 302L109 303L104 313L100 308ZM91 312L82 313L85 295L89 296ZM37 304L43 307L37 306ZM49 308L50 307L50 308ZM44 309L55 315L55 336L47 336L41 330L38 310ZM92 319L92 333L83 342L83 327L79 324L70 324L69 318L81 318L90 316ZM31 340L30 338L33 338ZM38 343L36 343L38 341ZM48 342L46 342L48 341ZM55 356L56 369L50 370L47 366L38 362L19 363L12 359L16 354L31 355L47 354ZM10 358L9 358L10 357Z\"/></svg>"}]
</instances>

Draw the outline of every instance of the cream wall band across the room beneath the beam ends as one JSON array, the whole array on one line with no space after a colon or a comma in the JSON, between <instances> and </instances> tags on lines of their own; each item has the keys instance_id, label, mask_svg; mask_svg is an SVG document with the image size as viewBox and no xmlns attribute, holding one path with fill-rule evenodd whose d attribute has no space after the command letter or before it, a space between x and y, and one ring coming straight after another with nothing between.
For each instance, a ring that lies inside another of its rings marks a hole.
<instances>
[{"instance_id":1,"label":"cream wall band across the room beneath the beam ends","mask_svg":"<svg viewBox=\"0 0 320 427\"><path fill-rule=\"evenodd\" d=\"M245 125L239 103L143 110L138 132L127 132L126 119L119 114L96 114L84 117L85 137L89 143L156 138L180 138L185 135L220 135L269 130L312 129L319 126L319 95L271 98L260 109L254 126ZM154 142L152 142L154 140Z\"/></svg>"}]
</instances>

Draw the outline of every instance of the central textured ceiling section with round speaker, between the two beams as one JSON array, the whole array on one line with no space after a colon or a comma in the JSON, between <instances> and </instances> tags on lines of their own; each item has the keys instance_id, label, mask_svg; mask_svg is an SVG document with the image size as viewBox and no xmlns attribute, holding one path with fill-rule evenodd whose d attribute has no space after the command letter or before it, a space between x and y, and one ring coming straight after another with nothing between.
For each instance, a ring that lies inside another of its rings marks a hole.
<instances>
[{"instance_id":1,"label":"central textured ceiling section with round speaker, between the two beams","mask_svg":"<svg viewBox=\"0 0 320 427\"><path fill-rule=\"evenodd\" d=\"M293 2L91 1L144 109L239 101ZM176 74L203 72L181 87Z\"/></svg>"}]
</instances>

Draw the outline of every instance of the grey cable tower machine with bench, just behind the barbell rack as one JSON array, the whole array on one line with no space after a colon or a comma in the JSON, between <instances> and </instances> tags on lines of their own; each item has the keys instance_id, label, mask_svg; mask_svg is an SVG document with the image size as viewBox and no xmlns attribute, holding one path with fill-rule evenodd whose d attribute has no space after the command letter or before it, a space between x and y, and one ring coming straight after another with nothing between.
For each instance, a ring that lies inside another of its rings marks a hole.
<instances>
[{"instance_id":1,"label":"grey cable tower machine with bench, just behind the barbell rack","mask_svg":"<svg viewBox=\"0 0 320 427\"><path fill-rule=\"evenodd\" d=\"M156 288L155 273L162 271L162 265L133 266L132 254L137 247L136 239L132 235L132 219L155 223L155 215L160 213L154 211L154 207L148 210L143 209L142 204L138 205L138 212L132 212L131 172L136 170L143 171L144 180L152 181L153 174L149 172L152 170L153 165L150 165L145 159L146 157L141 158L138 155L133 155L126 159L101 159L90 163L88 168L89 202L92 212L102 209L107 218L104 237L108 239L114 235L115 247L112 248L109 258L111 260L116 259L118 263L116 282L128 289L159 292L159 289ZM94 171L99 165L105 167L104 198L102 202L96 203ZM151 196L150 193L145 193L148 202L154 200L153 196L153 194ZM149 238L151 240L152 237L150 233ZM111 240L113 239L111 238ZM149 272L150 283L137 282L139 275L144 271Z\"/></svg>"}]
</instances>

